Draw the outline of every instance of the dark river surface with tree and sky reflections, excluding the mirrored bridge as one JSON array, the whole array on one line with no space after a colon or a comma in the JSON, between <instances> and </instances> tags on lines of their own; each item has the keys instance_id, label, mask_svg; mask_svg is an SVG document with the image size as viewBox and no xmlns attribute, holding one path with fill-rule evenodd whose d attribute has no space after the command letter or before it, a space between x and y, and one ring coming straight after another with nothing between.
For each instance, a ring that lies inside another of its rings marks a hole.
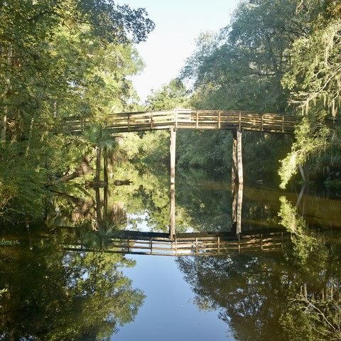
<instances>
[{"instance_id":1,"label":"dark river surface with tree and sky reflections, excluding the mirrored bridge","mask_svg":"<svg viewBox=\"0 0 341 341\"><path fill-rule=\"evenodd\" d=\"M4 228L0 340L341 340L337 193L244 185L242 237L286 228L278 251L112 254L104 246L120 229L169 229L168 178L125 174L131 183L109 185L99 206L75 190L45 224ZM188 171L175 198L179 233L234 230L229 180ZM80 239L99 250L70 251Z\"/></svg>"}]
</instances>

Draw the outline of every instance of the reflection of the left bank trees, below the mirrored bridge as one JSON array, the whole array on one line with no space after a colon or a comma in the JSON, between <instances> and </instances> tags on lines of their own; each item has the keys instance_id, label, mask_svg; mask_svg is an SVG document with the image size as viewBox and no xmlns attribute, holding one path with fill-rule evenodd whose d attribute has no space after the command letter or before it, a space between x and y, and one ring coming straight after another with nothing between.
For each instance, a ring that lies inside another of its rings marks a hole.
<instances>
[{"instance_id":1,"label":"reflection of the left bank trees, below the mirrored bridge","mask_svg":"<svg viewBox=\"0 0 341 341\"><path fill-rule=\"evenodd\" d=\"M33 237L0 252L1 340L104 340L144 301L120 255L66 253Z\"/></svg>"}]
</instances>

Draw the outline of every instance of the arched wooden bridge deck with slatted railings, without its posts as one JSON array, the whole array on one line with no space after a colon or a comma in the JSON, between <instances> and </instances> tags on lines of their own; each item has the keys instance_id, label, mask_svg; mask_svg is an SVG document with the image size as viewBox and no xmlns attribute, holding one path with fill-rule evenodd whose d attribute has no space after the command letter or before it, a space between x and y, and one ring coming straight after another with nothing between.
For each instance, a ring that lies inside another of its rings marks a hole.
<instances>
[{"instance_id":1,"label":"arched wooden bridge deck with slatted railings, without its posts","mask_svg":"<svg viewBox=\"0 0 341 341\"><path fill-rule=\"evenodd\" d=\"M255 112L175 109L162 112L126 112L112 114L105 126L113 132L152 131L160 129L244 129L293 134L300 117ZM89 121L68 120L72 131L80 131Z\"/></svg>"}]
</instances>

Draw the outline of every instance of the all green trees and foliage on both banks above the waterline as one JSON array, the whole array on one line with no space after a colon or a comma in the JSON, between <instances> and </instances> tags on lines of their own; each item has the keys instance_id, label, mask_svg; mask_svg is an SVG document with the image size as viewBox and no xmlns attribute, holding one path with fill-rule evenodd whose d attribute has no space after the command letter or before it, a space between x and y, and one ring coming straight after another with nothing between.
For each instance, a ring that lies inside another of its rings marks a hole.
<instances>
[{"instance_id":1,"label":"all green trees and foliage on both banks above the waterline","mask_svg":"<svg viewBox=\"0 0 341 341\"><path fill-rule=\"evenodd\" d=\"M107 182L109 161L167 164L166 131L110 136L99 125L108 114L138 109L303 115L294 144L288 136L244 134L246 180L276 177L279 184L279 169L284 187L298 166L310 180L332 183L340 175L340 134L325 125L326 118L338 121L340 111L337 1L241 1L229 26L202 33L179 77L144 106L128 79L143 68L135 44L154 27L144 9L114 1L18 0L2 1L0 10L3 217L41 217L48 198L70 180L97 169L97 184ZM69 118L94 126L70 136L63 130ZM230 148L229 132L180 131L178 166L226 173Z\"/></svg>"}]
</instances>

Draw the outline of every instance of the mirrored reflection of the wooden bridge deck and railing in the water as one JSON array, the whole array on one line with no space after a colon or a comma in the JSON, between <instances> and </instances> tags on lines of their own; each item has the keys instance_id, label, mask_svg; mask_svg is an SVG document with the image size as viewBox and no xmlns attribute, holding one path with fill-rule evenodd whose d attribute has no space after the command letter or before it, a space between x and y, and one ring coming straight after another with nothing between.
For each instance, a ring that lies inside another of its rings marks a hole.
<instances>
[{"instance_id":1,"label":"mirrored reflection of the wooden bridge deck and railing in the water","mask_svg":"<svg viewBox=\"0 0 341 341\"><path fill-rule=\"evenodd\" d=\"M181 233L175 239L166 233L122 231L111 239L105 252L158 256L215 256L283 250L291 245L288 232L249 232L236 237L231 232ZM70 251L94 251L82 244Z\"/></svg>"}]
</instances>

